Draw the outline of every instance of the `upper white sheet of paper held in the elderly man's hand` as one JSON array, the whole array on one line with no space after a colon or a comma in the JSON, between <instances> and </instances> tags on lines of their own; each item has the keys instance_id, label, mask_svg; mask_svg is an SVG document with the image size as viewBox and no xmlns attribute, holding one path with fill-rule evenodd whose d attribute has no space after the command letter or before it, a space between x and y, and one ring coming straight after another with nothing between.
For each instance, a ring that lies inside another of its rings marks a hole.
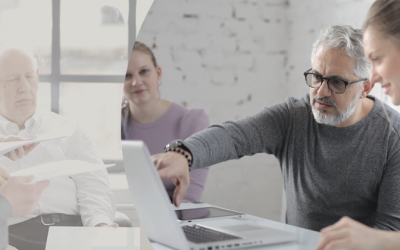
<instances>
[{"instance_id":1,"label":"upper white sheet of paper held in the elderly man's hand","mask_svg":"<svg viewBox=\"0 0 400 250\"><path fill-rule=\"evenodd\" d=\"M75 126L71 123L66 123L64 125L59 126L57 129L54 129L46 134L40 135L37 138L29 141L12 141L12 142L0 142L0 155L4 155L14 149L19 147L37 143L37 142L44 142L50 140L56 140L65 138L70 136L74 131Z\"/></svg>"}]
</instances>

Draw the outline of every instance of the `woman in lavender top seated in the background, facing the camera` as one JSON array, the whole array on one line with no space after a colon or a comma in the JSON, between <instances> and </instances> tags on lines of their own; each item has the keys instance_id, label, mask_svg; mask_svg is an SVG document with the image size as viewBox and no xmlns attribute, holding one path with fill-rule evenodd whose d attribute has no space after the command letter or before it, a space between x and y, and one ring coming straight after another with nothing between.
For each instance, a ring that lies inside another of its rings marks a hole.
<instances>
[{"instance_id":1,"label":"woman in lavender top seated in the background, facing the camera","mask_svg":"<svg viewBox=\"0 0 400 250\"><path fill-rule=\"evenodd\" d=\"M186 139L209 125L203 110L189 110L161 99L161 78L162 70L153 52L145 44L135 42L125 76L121 139L144 141L152 155L163 152L167 143ZM190 173L190 186L183 201L200 201L207 173L208 168ZM163 183L172 199L175 185L171 179Z\"/></svg>"}]
</instances>

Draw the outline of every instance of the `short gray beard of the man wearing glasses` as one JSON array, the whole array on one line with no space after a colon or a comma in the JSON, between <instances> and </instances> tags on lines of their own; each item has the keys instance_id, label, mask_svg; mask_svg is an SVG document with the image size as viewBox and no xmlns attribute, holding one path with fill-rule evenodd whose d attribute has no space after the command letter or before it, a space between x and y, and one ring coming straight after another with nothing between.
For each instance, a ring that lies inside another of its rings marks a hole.
<instances>
[{"instance_id":1,"label":"short gray beard of the man wearing glasses","mask_svg":"<svg viewBox=\"0 0 400 250\"><path fill-rule=\"evenodd\" d=\"M360 101L360 96L362 93L362 88L358 91L356 97L350 102L350 104L344 109L344 110L338 110L337 104L333 102L330 99L326 98L319 98L317 95L313 97L312 99L312 112L314 115L314 119L321 124L326 124L330 126L337 126L339 124L342 124L344 121L350 118L350 116L354 113L356 110L357 104ZM320 99L323 102L331 104L335 109L336 113L328 115L324 114L326 110L323 109L318 109L315 108L314 103L316 100Z\"/></svg>"}]
</instances>

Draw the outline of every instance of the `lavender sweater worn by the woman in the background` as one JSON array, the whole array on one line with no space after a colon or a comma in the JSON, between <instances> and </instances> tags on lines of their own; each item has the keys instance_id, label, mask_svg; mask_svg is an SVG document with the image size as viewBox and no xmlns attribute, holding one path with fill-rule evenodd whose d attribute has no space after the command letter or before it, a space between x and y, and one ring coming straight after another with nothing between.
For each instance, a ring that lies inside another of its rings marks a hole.
<instances>
[{"instance_id":1,"label":"lavender sweater worn by the woman in the background","mask_svg":"<svg viewBox=\"0 0 400 250\"><path fill-rule=\"evenodd\" d=\"M142 140L150 154L163 152L164 146L176 139L186 139L192 134L205 129L209 120L201 109L188 110L177 103L172 103L168 111L151 124L140 124L129 115L129 108L122 110L121 139ZM190 172L190 186L183 199L186 202L199 202L207 179L208 167ZM163 180L165 189L172 198L175 185L171 179Z\"/></svg>"}]
</instances>

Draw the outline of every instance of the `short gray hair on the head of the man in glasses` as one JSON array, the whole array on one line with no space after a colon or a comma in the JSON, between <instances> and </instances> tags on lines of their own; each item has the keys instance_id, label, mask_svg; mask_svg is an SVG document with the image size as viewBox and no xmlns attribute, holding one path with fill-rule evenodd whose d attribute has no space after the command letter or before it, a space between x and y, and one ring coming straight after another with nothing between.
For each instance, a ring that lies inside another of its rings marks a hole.
<instances>
[{"instance_id":1,"label":"short gray hair on the head of the man in glasses","mask_svg":"<svg viewBox=\"0 0 400 250\"><path fill-rule=\"evenodd\" d=\"M320 44L329 49L342 49L356 60L354 74L359 78L369 78L371 66L364 54L361 29L354 29L350 25L335 25L321 30L312 47L311 63Z\"/></svg>"}]
</instances>

